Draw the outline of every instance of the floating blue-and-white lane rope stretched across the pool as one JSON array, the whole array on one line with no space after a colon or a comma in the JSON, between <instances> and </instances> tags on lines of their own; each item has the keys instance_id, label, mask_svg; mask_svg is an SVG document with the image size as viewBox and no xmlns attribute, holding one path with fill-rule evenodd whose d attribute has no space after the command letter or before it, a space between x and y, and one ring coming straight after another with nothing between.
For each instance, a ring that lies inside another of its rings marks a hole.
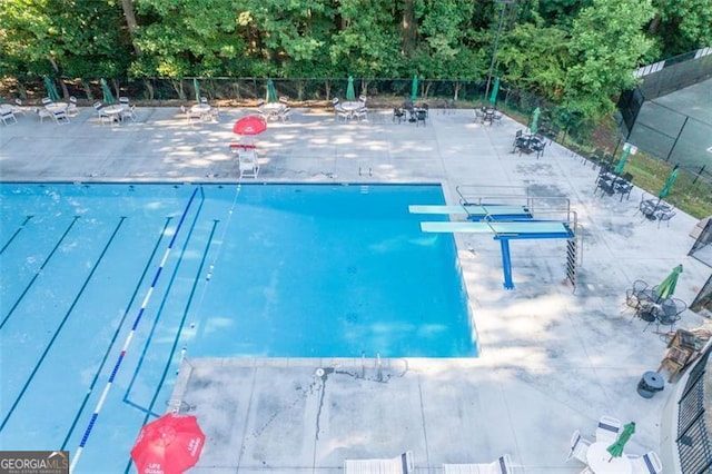
<instances>
[{"instance_id":1,"label":"floating blue-and-white lane rope stretched across the pool","mask_svg":"<svg viewBox=\"0 0 712 474\"><path fill-rule=\"evenodd\" d=\"M97 405L95 407L93 413L91 414L91 418L89 419L89 424L87 425L87 428L85 429L83 435L81 436L81 441L79 443L79 446L77 447L77 451L75 452L75 456L71 460L71 463L69 465L69 472L72 473L75 471L75 467L77 466L77 463L79 462L79 458L81 457L81 453L85 450L85 446L87 445L87 441L89 440L89 436L91 435L91 429L93 428L93 425L97 423L97 418L99 417L99 413L101 413L101 408L103 407L103 403L107 399L107 396L109 395L109 391L111 389L111 386L113 384L113 381L116 379L116 375L119 372L119 368L121 367L121 362L123 362L123 358L126 357L126 353L129 349L129 346L131 345L131 339L134 339L134 335L136 334L136 328L138 327L138 324L141 322L141 316L144 315L144 313L146 312L146 306L148 305L148 302L150 302L151 299L151 295L154 294L154 289L156 288L156 283L158 282L160 274L162 273L164 266L166 265L166 261L168 260L168 257L170 256L170 251L174 248L174 244L176 243L176 239L178 238L178 235L180 234L180 228L182 227L182 223L186 220L186 216L188 215L188 210L190 209L190 206L192 205L192 200L195 199L196 195L198 194L198 190L200 190L201 197L205 200L205 194L202 191L202 186L196 188L192 191L192 195L190 195L190 199L188 200L188 204L186 205L186 208L182 211L182 215L180 216L180 220L178 220L178 225L176 226L176 231L174 233L170 243L168 244L168 247L166 248L166 251L164 253L164 258L161 259L158 268L156 269L156 275L154 275L154 280L151 282L150 287L148 288L148 290L146 292L146 296L144 297L144 302L141 303L141 307L138 310L138 314L136 315L136 319L134 320L134 325L131 326L131 330L129 332L128 336L126 337L126 340L123 343L123 347L121 348L121 353L119 354L119 357L117 357L116 364L113 365L113 368L111 369L111 375L109 376L109 379L107 381L107 384L103 387L103 392L101 393L101 396L99 397L99 401L97 402Z\"/></svg>"}]
</instances>

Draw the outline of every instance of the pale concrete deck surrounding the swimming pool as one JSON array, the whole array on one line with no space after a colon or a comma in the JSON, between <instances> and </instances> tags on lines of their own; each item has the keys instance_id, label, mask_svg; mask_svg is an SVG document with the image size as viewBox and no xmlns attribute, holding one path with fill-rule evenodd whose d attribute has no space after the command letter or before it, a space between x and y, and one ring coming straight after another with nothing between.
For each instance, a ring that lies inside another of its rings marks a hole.
<instances>
[{"instance_id":1,"label":"pale concrete deck surrounding the swimming pool","mask_svg":"<svg viewBox=\"0 0 712 474\"><path fill-rule=\"evenodd\" d=\"M231 125L249 112L221 110L220 122L197 125L177 108L139 108L137 122L112 127L100 126L93 109L60 126L28 111L0 127L0 174L4 181L236 181ZM601 415L636 423L627 453L661 451L674 384L651 399L635 388L657 368L665 340L622 308L633 280L656 284L678 264L675 296L692 302L710 275L686 256L696 220L680 213L670 226L644 220L640 189L630 200L594 196L597 171L555 144L540 159L512 154L522 128L508 118L483 127L471 110L433 110L417 128L393 124L389 111L344 124L303 109L269 124L256 139L257 181L442 182L448 204L459 185L568 197L583 229L578 286L574 294L565 283L564 240L513 243L516 289L505 290L498 243L456 235L476 359L188 358L175 396L207 435L190 472L329 473L345 458L411 450L418 474L504 453L527 473L577 473L583 465L564 462L571 434L593 436ZM688 310L678 327L702 325L708 319ZM78 472L100 471L80 462Z\"/></svg>"}]
</instances>

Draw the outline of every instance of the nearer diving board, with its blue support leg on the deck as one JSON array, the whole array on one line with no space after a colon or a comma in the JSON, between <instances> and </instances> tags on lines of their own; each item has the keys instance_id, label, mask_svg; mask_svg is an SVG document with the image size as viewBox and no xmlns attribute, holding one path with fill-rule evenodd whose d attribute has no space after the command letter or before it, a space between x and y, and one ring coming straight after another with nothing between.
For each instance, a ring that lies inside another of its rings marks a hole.
<instances>
[{"instance_id":1,"label":"nearer diving board, with its blue support leg on the deck","mask_svg":"<svg viewBox=\"0 0 712 474\"><path fill-rule=\"evenodd\" d=\"M436 234L490 234L495 240L500 240L502 248L502 270L504 273L504 287L514 288L512 282L512 258L510 256L510 240L517 239L573 239L575 221L533 220L520 219L515 221L486 220L473 221L424 221L421 230Z\"/></svg>"}]
</instances>

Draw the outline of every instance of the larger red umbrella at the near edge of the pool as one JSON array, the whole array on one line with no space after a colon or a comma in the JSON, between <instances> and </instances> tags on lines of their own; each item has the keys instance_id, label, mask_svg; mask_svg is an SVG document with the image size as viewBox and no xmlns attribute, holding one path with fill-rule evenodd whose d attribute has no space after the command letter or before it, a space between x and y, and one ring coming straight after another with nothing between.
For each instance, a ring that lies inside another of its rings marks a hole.
<instances>
[{"instance_id":1,"label":"larger red umbrella at the near edge of the pool","mask_svg":"<svg viewBox=\"0 0 712 474\"><path fill-rule=\"evenodd\" d=\"M204 444L195 416L169 413L141 427L131 458L139 474L182 474L196 465Z\"/></svg>"}]
</instances>

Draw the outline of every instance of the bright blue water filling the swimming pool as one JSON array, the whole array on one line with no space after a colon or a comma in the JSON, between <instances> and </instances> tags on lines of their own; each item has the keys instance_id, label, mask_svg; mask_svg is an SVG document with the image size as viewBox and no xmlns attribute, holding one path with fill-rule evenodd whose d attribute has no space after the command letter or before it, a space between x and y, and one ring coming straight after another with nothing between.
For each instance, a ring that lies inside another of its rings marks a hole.
<instances>
[{"instance_id":1,"label":"bright blue water filling the swimming pool","mask_svg":"<svg viewBox=\"0 0 712 474\"><path fill-rule=\"evenodd\" d=\"M441 187L0 185L0 448L130 472L184 356L475 356L454 240L411 204Z\"/></svg>"}]
</instances>

